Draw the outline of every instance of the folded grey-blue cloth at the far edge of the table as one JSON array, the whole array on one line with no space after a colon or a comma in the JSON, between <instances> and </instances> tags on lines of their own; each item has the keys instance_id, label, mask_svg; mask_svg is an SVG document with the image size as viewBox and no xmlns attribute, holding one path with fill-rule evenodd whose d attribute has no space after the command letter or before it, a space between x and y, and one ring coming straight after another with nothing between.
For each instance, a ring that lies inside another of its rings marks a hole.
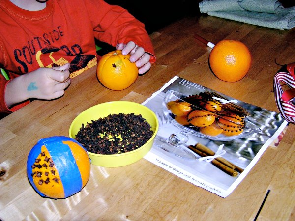
<instances>
[{"instance_id":1,"label":"folded grey-blue cloth at the far edge of the table","mask_svg":"<svg viewBox=\"0 0 295 221\"><path fill-rule=\"evenodd\" d=\"M295 27L295 7L283 8L277 0L203 0L200 12L275 29Z\"/></svg>"}]
</instances>

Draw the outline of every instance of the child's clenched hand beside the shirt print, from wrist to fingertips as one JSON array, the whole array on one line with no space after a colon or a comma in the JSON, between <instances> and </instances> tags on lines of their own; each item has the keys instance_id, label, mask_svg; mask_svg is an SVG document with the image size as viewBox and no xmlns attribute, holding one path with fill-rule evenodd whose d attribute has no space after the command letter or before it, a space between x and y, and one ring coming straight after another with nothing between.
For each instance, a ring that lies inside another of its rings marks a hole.
<instances>
[{"instance_id":1,"label":"child's clenched hand beside the shirt print, from wrist to fingertips","mask_svg":"<svg viewBox=\"0 0 295 221\"><path fill-rule=\"evenodd\" d=\"M29 73L27 91L30 98L52 100L64 94L71 83L70 64L53 68L39 68Z\"/></svg>"}]
</instances>

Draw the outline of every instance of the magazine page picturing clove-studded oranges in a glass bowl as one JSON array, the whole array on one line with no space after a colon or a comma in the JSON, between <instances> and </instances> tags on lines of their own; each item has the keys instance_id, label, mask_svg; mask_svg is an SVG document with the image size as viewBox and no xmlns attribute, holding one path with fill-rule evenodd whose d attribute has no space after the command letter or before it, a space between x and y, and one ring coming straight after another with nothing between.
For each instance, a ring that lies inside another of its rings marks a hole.
<instances>
[{"instance_id":1,"label":"magazine page picturing clove-studded oranges in a glass bowl","mask_svg":"<svg viewBox=\"0 0 295 221\"><path fill-rule=\"evenodd\" d=\"M145 159L221 197L235 190L287 126L277 112L177 76L143 105L159 120Z\"/></svg>"}]
</instances>

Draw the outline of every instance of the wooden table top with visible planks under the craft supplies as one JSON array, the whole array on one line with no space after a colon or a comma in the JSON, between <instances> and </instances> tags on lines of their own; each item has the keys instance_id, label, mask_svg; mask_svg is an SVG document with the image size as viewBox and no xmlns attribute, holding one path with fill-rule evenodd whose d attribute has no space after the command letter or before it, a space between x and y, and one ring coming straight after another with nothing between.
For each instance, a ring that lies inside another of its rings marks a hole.
<instances>
[{"instance_id":1,"label":"wooden table top with visible planks under the craft supplies","mask_svg":"<svg viewBox=\"0 0 295 221\"><path fill-rule=\"evenodd\" d=\"M211 49L195 40L195 33L213 43L222 39L244 42L253 56L247 76L236 83L217 79L208 67ZM68 136L72 120L95 104L113 100L142 103L175 75L277 111L273 77L280 66L275 61L295 61L295 29L276 30L202 15L184 18L150 37L157 62L131 87L108 90L97 81L92 68L74 78L63 97L34 101L0 120L0 219L253 220L270 189L258 220L295 220L295 125L289 125L279 146L268 148L227 198L145 159L118 168L92 165L86 187L66 199L42 198L33 190L26 163L40 138Z\"/></svg>"}]
</instances>

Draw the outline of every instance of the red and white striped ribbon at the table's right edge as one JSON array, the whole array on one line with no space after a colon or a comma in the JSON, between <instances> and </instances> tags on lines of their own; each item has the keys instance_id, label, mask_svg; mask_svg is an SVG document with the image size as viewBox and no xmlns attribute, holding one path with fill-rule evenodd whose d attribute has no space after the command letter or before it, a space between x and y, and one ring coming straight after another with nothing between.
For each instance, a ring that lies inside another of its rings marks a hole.
<instances>
[{"instance_id":1,"label":"red and white striped ribbon at the table's right edge","mask_svg":"<svg viewBox=\"0 0 295 221\"><path fill-rule=\"evenodd\" d=\"M295 123L295 105L292 103L295 92L294 68L295 63L288 64L288 72L279 71L274 76L274 95L276 105L282 117L291 123ZM284 91L280 83L288 85L290 89Z\"/></svg>"}]
</instances>

